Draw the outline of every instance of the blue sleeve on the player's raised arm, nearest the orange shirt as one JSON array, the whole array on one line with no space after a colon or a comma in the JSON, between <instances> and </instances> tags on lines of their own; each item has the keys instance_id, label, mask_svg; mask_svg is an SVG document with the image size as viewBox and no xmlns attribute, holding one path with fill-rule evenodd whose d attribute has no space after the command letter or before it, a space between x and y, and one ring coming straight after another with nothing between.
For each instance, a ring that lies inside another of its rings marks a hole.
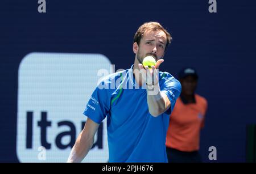
<instances>
[{"instance_id":1,"label":"blue sleeve on the player's raised arm, nearest the orange shirt","mask_svg":"<svg viewBox=\"0 0 256 174\"><path fill-rule=\"evenodd\" d=\"M171 101L171 107L164 113L170 116L174 109L176 100L180 96L181 84L179 80L172 77L172 75L169 73L163 73L162 76L164 76L164 78L162 78L159 82L160 91L164 92L164 94L166 94L168 99Z\"/></svg>"}]
</instances>

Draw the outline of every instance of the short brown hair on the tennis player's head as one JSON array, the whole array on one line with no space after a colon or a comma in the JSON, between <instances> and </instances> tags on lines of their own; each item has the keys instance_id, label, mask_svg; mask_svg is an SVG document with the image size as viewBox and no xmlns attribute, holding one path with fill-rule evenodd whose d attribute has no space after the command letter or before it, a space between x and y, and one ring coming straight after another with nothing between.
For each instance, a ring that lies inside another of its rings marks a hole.
<instances>
[{"instance_id":1,"label":"short brown hair on the tennis player's head","mask_svg":"<svg viewBox=\"0 0 256 174\"><path fill-rule=\"evenodd\" d=\"M167 37L166 48L171 43L172 36L158 22L146 22L146 23L142 24L142 26L138 28L138 31L134 35L133 43L137 43L139 45L139 43L141 42L141 39L143 37L143 34L148 30L149 31L162 30L164 33L166 33L166 37Z\"/></svg>"}]
</instances>

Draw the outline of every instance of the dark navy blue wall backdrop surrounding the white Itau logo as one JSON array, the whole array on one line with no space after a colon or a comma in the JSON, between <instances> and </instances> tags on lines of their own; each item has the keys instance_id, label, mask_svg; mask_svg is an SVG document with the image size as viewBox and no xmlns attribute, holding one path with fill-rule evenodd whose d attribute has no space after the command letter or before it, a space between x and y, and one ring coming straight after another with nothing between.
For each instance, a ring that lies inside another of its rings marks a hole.
<instances>
[{"instance_id":1,"label":"dark navy blue wall backdrop surrounding the white Itau logo","mask_svg":"<svg viewBox=\"0 0 256 174\"><path fill-rule=\"evenodd\" d=\"M171 32L161 71L177 77L185 66L199 73L197 93L209 108L201 132L201 155L216 146L214 162L245 162L246 125L256 124L256 1L217 0L209 13L200 1L1 1L0 162L16 155L18 68L31 52L101 53L115 69L134 62L133 36L144 22ZM86 101L85 101L86 103Z\"/></svg>"}]
</instances>

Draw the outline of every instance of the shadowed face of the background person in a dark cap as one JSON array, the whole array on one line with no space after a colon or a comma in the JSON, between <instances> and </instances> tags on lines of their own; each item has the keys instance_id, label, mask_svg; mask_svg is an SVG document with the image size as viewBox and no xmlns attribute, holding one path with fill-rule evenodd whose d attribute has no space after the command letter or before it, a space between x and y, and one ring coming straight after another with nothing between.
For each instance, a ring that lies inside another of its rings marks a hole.
<instances>
[{"instance_id":1,"label":"shadowed face of the background person in a dark cap","mask_svg":"<svg viewBox=\"0 0 256 174\"><path fill-rule=\"evenodd\" d=\"M183 94L185 95L193 95L196 91L197 79L192 75L188 75L180 79L181 89Z\"/></svg>"}]
</instances>

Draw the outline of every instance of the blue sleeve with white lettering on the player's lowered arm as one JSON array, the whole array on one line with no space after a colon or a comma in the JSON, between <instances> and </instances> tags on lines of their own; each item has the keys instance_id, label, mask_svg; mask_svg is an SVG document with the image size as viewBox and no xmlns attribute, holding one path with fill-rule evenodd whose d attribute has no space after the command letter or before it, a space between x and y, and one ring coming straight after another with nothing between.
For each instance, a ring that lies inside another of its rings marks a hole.
<instances>
[{"instance_id":1,"label":"blue sleeve with white lettering on the player's lowered arm","mask_svg":"<svg viewBox=\"0 0 256 174\"><path fill-rule=\"evenodd\" d=\"M104 83L104 82L102 82ZM100 124L110 110L110 95L108 88L97 86L86 104L84 115Z\"/></svg>"}]
</instances>

